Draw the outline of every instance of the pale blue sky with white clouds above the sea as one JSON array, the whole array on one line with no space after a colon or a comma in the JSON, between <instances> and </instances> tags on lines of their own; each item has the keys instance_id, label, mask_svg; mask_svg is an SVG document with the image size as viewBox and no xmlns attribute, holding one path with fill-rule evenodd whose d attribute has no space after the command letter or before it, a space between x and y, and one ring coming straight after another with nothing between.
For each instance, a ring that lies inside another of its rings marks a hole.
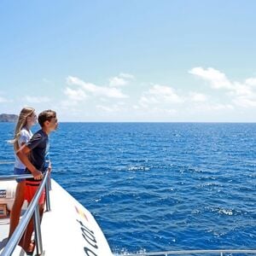
<instances>
[{"instance_id":1,"label":"pale blue sky with white clouds above the sea","mask_svg":"<svg viewBox=\"0 0 256 256\"><path fill-rule=\"evenodd\" d=\"M0 113L256 121L256 2L0 2Z\"/></svg>"}]
</instances>

